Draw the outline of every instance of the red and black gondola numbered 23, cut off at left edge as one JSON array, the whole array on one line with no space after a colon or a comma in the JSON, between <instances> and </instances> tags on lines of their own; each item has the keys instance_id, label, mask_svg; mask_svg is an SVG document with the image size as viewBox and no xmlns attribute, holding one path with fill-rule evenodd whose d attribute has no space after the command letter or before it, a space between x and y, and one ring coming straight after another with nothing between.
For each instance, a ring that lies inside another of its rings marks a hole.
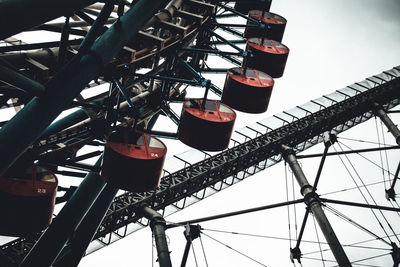
<instances>
[{"instance_id":1,"label":"red and black gondola numbered 23, cut off at left edge","mask_svg":"<svg viewBox=\"0 0 400 267\"><path fill-rule=\"evenodd\" d=\"M18 177L0 177L0 235L24 236L50 225L57 177L33 165Z\"/></svg>"}]
</instances>

